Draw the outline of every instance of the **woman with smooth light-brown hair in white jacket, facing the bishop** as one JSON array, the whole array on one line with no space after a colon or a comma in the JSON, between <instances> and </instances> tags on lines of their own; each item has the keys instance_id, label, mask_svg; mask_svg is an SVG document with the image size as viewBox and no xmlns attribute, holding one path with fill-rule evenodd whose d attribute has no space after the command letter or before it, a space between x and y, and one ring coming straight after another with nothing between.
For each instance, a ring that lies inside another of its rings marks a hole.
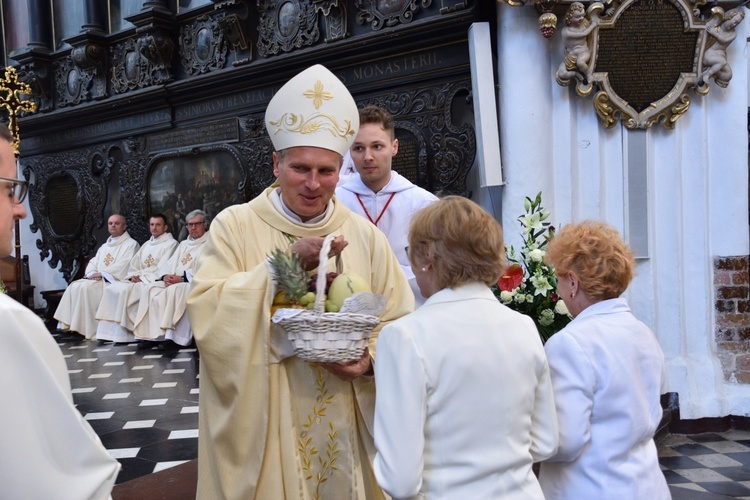
<instances>
[{"instance_id":1,"label":"woman with smooth light-brown hair in white jacket, facing the bishop","mask_svg":"<svg viewBox=\"0 0 750 500\"><path fill-rule=\"evenodd\" d=\"M532 464L555 452L557 418L534 322L488 286L500 225L448 196L414 215L408 241L427 301L378 338L378 483L394 498L542 499Z\"/></svg>"}]
</instances>

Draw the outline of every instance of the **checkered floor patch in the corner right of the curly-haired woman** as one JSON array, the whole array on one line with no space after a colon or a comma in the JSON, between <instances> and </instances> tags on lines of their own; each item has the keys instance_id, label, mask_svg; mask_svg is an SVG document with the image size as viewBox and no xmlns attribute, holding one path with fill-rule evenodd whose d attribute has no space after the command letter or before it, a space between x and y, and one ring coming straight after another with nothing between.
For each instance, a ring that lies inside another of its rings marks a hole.
<instances>
[{"instance_id":1,"label":"checkered floor patch in the corner right of the curly-haired woman","mask_svg":"<svg viewBox=\"0 0 750 500\"><path fill-rule=\"evenodd\" d=\"M750 431L671 434L658 447L673 498L750 499Z\"/></svg>"}]
</instances>

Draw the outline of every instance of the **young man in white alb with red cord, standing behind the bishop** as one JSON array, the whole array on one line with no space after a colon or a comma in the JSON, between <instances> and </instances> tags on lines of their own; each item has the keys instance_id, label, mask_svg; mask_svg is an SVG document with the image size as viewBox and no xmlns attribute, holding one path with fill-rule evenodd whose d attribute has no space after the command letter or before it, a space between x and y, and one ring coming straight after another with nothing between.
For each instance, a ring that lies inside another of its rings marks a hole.
<instances>
[{"instance_id":1,"label":"young man in white alb with red cord, standing behind the bishop","mask_svg":"<svg viewBox=\"0 0 750 500\"><path fill-rule=\"evenodd\" d=\"M417 307L425 298L419 292L406 247L412 215L437 197L392 170L398 153L393 116L378 106L359 110L359 133L350 148L359 175L336 188L336 197L354 213L383 231L409 280Z\"/></svg>"}]
</instances>

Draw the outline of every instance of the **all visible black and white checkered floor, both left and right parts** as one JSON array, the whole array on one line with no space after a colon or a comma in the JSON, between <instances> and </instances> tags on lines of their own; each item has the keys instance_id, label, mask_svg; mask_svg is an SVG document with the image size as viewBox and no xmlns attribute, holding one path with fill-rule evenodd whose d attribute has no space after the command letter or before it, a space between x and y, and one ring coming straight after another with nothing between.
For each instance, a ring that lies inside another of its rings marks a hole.
<instances>
[{"instance_id":1,"label":"all visible black and white checkered floor, both left and right parts","mask_svg":"<svg viewBox=\"0 0 750 500\"><path fill-rule=\"evenodd\" d=\"M53 334L66 358L73 398L110 454L121 483L198 456L198 352L162 352ZM675 500L750 499L750 431L658 444Z\"/></svg>"}]
</instances>

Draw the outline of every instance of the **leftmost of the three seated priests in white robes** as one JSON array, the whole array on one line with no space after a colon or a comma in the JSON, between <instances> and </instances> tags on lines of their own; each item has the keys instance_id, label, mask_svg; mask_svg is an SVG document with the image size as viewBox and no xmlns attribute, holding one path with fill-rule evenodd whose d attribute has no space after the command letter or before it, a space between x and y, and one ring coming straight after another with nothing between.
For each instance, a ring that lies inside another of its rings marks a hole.
<instances>
[{"instance_id":1,"label":"leftmost of the three seated priests in white robes","mask_svg":"<svg viewBox=\"0 0 750 500\"><path fill-rule=\"evenodd\" d=\"M127 232L125 217L111 215L107 230L109 238L89 261L83 279L65 290L54 315L59 329L78 333L87 340L96 337L96 310L104 290L112 281L125 277L130 260L138 251L138 242Z\"/></svg>"}]
</instances>

